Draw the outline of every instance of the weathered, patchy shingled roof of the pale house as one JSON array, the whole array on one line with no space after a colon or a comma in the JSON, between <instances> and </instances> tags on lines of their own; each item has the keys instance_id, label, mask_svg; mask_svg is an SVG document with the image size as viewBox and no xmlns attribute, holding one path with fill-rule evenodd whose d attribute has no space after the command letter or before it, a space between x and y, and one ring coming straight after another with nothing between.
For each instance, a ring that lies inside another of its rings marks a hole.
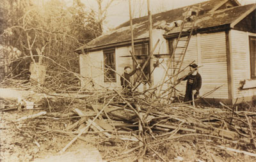
<instances>
[{"instance_id":1,"label":"weathered, patchy shingled roof of the pale house","mask_svg":"<svg viewBox=\"0 0 256 162\"><path fill-rule=\"evenodd\" d=\"M204 12L195 22L196 29L203 29L214 26L222 26L225 24L232 24L235 22L237 18L241 18L241 15L248 10L254 10L255 4L248 4L246 6L236 6L232 8L227 8L223 10L215 10L212 8L223 3L223 1L227 0L211 0L205 1L201 4L202 11ZM235 5L239 5L237 1L231 1L236 3ZM193 4L192 6L198 6L198 4ZM171 23L176 20L183 20L182 14L186 10L186 7L177 8L170 11L165 11L163 13L157 13L152 15L152 24L153 29L156 29L161 23ZM133 24L133 34L134 40L140 40L142 38L148 38L148 16L134 18L132 19ZM168 34L179 33L180 28L174 27ZM76 51L80 51L82 49L93 50L96 47L104 47L106 45L115 45L115 43L131 41L131 29L130 22L125 22L124 24L116 27L113 31L109 31L107 33L102 34L98 38L90 41L86 45L83 45L80 48L77 48Z\"/></svg>"}]
</instances>

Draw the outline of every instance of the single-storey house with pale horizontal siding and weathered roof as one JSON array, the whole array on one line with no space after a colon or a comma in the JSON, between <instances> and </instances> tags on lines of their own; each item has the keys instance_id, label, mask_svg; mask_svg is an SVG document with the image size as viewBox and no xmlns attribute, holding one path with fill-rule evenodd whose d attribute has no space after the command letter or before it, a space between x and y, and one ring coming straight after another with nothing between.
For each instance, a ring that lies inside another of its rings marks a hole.
<instances>
[{"instance_id":1,"label":"single-storey house with pale horizontal siding and weathered roof","mask_svg":"<svg viewBox=\"0 0 256 162\"><path fill-rule=\"evenodd\" d=\"M194 60L198 66L202 66L199 68L199 73L202 75L201 96L221 86L205 97L209 101L235 103L237 100L239 103L255 99L255 4L241 6L236 0L211 0L200 4L201 9L195 20L196 29L189 41L182 68ZM185 10L186 7L183 7L152 15L153 45L157 40L160 41L154 50L154 58L150 61L156 64L162 59L161 66L166 66L180 27L170 27L166 31L161 26L183 20ZM143 63L148 55L148 17L134 18L132 23L135 55L138 62ZM134 67L129 51L131 51L131 30L129 22L125 22L115 30L102 34L83 47L77 48L76 52L80 55L81 75L84 78L92 78L95 87L120 87L120 75L124 67ZM145 68L145 73L154 69L150 65ZM109 68L113 71L108 70ZM180 73L180 76L188 72L189 70L186 69ZM152 75L156 82L163 73L154 71ZM177 86L181 93L184 93L185 84L186 82L182 82ZM89 84L84 79L81 80L81 85ZM143 89L145 86L140 88Z\"/></svg>"}]
</instances>

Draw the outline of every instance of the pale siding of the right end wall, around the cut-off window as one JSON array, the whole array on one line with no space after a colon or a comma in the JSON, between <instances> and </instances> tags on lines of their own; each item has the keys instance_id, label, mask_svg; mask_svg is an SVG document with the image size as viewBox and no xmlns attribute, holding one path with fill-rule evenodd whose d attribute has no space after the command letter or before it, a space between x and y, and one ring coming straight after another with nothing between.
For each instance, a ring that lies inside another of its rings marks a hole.
<instances>
[{"instance_id":1,"label":"pale siding of the right end wall, around the cut-off window","mask_svg":"<svg viewBox=\"0 0 256 162\"><path fill-rule=\"evenodd\" d=\"M233 87L234 97L243 98L247 96L256 96L256 89L239 89L240 82L250 79L250 50L249 35L256 36L255 33L246 33L244 31L230 31L232 69L233 69Z\"/></svg>"}]
</instances>

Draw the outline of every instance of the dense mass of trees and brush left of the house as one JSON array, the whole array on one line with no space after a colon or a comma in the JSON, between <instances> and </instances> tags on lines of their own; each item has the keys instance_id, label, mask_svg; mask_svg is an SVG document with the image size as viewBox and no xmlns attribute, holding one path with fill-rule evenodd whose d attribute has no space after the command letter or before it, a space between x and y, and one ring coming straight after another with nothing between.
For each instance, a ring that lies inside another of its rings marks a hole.
<instances>
[{"instance_id":1,"label":"dense mass of trees and brush left of the house","mask_svg":"<svg viewBox=\"0 0 256 162\"><path fill-rule=\"evenodd\" d=\"M47 66L48 85L60 89L70 84L67 77L79 73L79 58L74 50L102 33L97 15L84 11L79 1L72 6L59 0L46 1L42 5L31 0L3 0L0 3L2 45L17 48L22 52L20 57L24 58L13 57L10 61L12 76L28 70L29 64L34 62ZM8 52L4 55L7 57ZM4 74L5 78L10 76Z\"/></svg>"}]
</instances>

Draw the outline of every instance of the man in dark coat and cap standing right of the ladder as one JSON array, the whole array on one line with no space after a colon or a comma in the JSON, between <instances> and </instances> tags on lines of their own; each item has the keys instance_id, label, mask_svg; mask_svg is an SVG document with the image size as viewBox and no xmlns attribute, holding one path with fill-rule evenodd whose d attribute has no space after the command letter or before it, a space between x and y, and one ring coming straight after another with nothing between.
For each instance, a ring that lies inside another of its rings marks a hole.
<instances>
[{"instance_id":1,"label":"man in dark coat and cap standing right of the ladder","mask_svg":"<svg viewBox=\"0 0 256 162\"><path fill-rule=\"evenodd\" d=\"M198 73L197 67L197 64L189 65L191 74L183 79L188 80L184 102L189 102L190 104L192 104L193 101L192 95L194 95L194 99L196 99L197 95L199 94L199 90L202 87L202 77Z\"/></svg>"}]
</instances>

